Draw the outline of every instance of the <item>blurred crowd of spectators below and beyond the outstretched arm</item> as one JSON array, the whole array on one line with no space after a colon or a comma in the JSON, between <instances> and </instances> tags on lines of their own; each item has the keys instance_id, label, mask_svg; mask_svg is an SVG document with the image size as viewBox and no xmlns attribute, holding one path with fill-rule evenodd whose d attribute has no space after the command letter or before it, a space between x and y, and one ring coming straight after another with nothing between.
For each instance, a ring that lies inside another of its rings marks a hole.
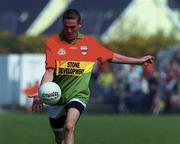
<instances>
[{"instance_id":1,"label":"blurred crowd of spectators below and beyond the outstretched arm","mask_svg":"<svg viewBox=\"0 0 180 144\"><path fill-rule=\"evenodd\" d=\"M161 68L157 64L97 65L90 89L90 102L98 99L104 106L111 105L116 113L178 113L180 53Z\"/></svg>"}]
</instances>

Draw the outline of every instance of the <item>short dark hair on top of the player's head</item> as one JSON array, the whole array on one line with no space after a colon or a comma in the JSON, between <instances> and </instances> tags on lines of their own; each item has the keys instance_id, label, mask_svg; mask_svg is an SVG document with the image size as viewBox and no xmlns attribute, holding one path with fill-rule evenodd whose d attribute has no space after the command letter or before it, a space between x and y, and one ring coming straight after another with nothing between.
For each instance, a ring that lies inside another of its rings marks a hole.
<instances>
[{"instance_id":1,"label":"short dark hair on top of the player's head","mask_svg":"<svg viewBox=\"0 0 180 144\"><path fill-rule=\"evenodd\" d=\"M81 21L80 13L76 9L68 9L63 14L63 21L65 19L76 19L78 22Z\"/></svg>"}]
</instances>

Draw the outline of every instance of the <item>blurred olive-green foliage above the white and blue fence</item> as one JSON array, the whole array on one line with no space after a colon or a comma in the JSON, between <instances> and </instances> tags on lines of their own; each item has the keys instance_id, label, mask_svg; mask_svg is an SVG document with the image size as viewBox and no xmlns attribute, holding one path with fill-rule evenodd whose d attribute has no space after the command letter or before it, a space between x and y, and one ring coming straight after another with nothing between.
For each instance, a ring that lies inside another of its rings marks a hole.
<instances>
[{"instance_id":1,"label":"blurred olive-green foliage above the white and blue fence","mask_svg":"<svg viewBox=\"0 0 180 144\"><path fill-rule=\"evenodd\" d=\"M43 53L45 40L45 36L14 36L7 32L0 32L0 53Z\"/></svg>"}]
</instances>

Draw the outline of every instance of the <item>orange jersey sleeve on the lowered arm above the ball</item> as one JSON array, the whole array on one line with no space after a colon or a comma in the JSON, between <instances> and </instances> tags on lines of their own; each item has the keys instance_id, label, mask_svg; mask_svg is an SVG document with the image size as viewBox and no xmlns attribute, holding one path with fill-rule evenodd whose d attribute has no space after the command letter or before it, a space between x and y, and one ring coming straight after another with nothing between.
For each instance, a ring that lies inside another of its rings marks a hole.
<instances>
[{"instance_id":1,"label":"orange jersey sleeve on the lowered arm above the ball","mask_svg":"<svg viewBox=\"0 0 180 144\"><path fill-rule=\"evenodd\" d=\"M45 43L45 54L46 54L46 69L47 68L55 68L55 59L53 56L53 51L51 47L48 45L48 43Z\"/></svg>"}]
</instances>

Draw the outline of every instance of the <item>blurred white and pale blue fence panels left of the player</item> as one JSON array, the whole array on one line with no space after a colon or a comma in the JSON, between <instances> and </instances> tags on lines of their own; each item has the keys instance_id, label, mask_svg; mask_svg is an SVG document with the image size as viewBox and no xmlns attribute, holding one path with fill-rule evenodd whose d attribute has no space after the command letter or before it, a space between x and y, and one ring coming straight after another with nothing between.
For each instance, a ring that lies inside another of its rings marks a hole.
<instances>
[{"instance_id":1,"label":"blurred white and pale blue fence panels left of the player","mask_svg":"<svg viewBox=\"0 0 180 144\"><path fill-rule=\"evenodd\" d=\"M24 90L40 81L44 59L42 54L0 56L0 105L13 107L31 104Z\"/></svg>"}]
</instances>

